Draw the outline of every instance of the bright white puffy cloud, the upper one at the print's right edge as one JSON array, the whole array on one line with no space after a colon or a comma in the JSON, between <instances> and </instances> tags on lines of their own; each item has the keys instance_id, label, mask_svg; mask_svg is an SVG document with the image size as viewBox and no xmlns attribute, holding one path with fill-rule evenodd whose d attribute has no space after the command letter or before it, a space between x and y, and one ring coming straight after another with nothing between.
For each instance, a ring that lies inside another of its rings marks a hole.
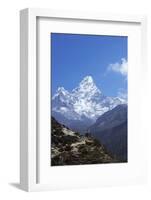
<instances>
[{"instance_id":1,"label":"bright white puffy cloud, the upper one at the print's right edge","mask_svg":"<svg viewBox=\"0 0 151 200\"><path fill-rule=\"evenodd\" d=\"M107 71L113 71L116 73L120 73L123 76L127 76L128 62L125 58L122 58L121 62L110 64L107 68Z\"/></svg>"}]
</instances>

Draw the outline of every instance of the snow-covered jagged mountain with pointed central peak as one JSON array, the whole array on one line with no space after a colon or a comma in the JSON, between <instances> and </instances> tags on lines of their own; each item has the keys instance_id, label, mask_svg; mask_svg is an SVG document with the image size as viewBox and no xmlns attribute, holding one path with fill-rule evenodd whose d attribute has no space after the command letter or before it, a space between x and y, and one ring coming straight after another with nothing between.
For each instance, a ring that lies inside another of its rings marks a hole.
<instances>
[{"instance_id":1,"label":"snow-covered jagged mountain with pointed central peak","mask_svg":"<svg viewBox=\"0 0 151 200\"><path fill-rule=\"evenodd\" d=\"M72 130L85 132L99 116L123 103L125 99L104 96L86 76L71 92L58 88L52 97L52 116Z\"/></svg>"}]
</instances>

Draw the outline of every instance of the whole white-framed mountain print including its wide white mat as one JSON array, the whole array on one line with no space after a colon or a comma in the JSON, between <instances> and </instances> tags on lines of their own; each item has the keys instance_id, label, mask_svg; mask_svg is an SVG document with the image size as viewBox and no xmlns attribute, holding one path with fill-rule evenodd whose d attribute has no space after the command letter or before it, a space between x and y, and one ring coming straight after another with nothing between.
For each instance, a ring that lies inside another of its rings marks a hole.
<instances>
[{"instance_id":1,"label":"whole white-framed mountain print including its wide white mat","mask_svg":"<svg viewBox=\"0 0 151 200\"><path fill-rule=\"evenodd\" d=\"M20 16L22 189L146 182L146 17Z\"/></svg>"}]
</instances>

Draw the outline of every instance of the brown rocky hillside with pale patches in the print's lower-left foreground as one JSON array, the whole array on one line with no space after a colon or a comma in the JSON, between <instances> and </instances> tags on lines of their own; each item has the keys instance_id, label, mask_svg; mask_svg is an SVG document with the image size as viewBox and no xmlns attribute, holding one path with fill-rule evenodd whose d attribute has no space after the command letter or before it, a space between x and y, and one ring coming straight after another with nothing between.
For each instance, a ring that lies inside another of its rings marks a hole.
<instances>
[{"instance_id":1,"label":"brown rocky hillside with pale patches in the print's lower-left foreground","mask_svg":"<svg viewBox=\"0 0 151 200\"><path fill-rule=\"evenodd\" d=\"M71 131L51 119L51 165L80 165L118 162L89 134Z\"/></svg>"}]
</instances>

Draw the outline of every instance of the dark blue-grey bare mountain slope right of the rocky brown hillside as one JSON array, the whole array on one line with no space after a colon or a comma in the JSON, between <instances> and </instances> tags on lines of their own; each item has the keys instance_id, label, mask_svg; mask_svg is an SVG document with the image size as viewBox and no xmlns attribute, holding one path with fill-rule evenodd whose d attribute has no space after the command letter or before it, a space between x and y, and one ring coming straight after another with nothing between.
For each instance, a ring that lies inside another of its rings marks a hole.
<instances>
[{"instance_id":1,"label":"dark blue-grey bare mountain slope right of the rocky brown hillside","mask_svg":"<svg viewBox=\"0 0 151 200\"><path fill-rule=\"evenodd\" d=\"M104 113L89 127L97 138L117 159L127 161L127 105L118 105Z\"/></svg>"}]
</instances>

